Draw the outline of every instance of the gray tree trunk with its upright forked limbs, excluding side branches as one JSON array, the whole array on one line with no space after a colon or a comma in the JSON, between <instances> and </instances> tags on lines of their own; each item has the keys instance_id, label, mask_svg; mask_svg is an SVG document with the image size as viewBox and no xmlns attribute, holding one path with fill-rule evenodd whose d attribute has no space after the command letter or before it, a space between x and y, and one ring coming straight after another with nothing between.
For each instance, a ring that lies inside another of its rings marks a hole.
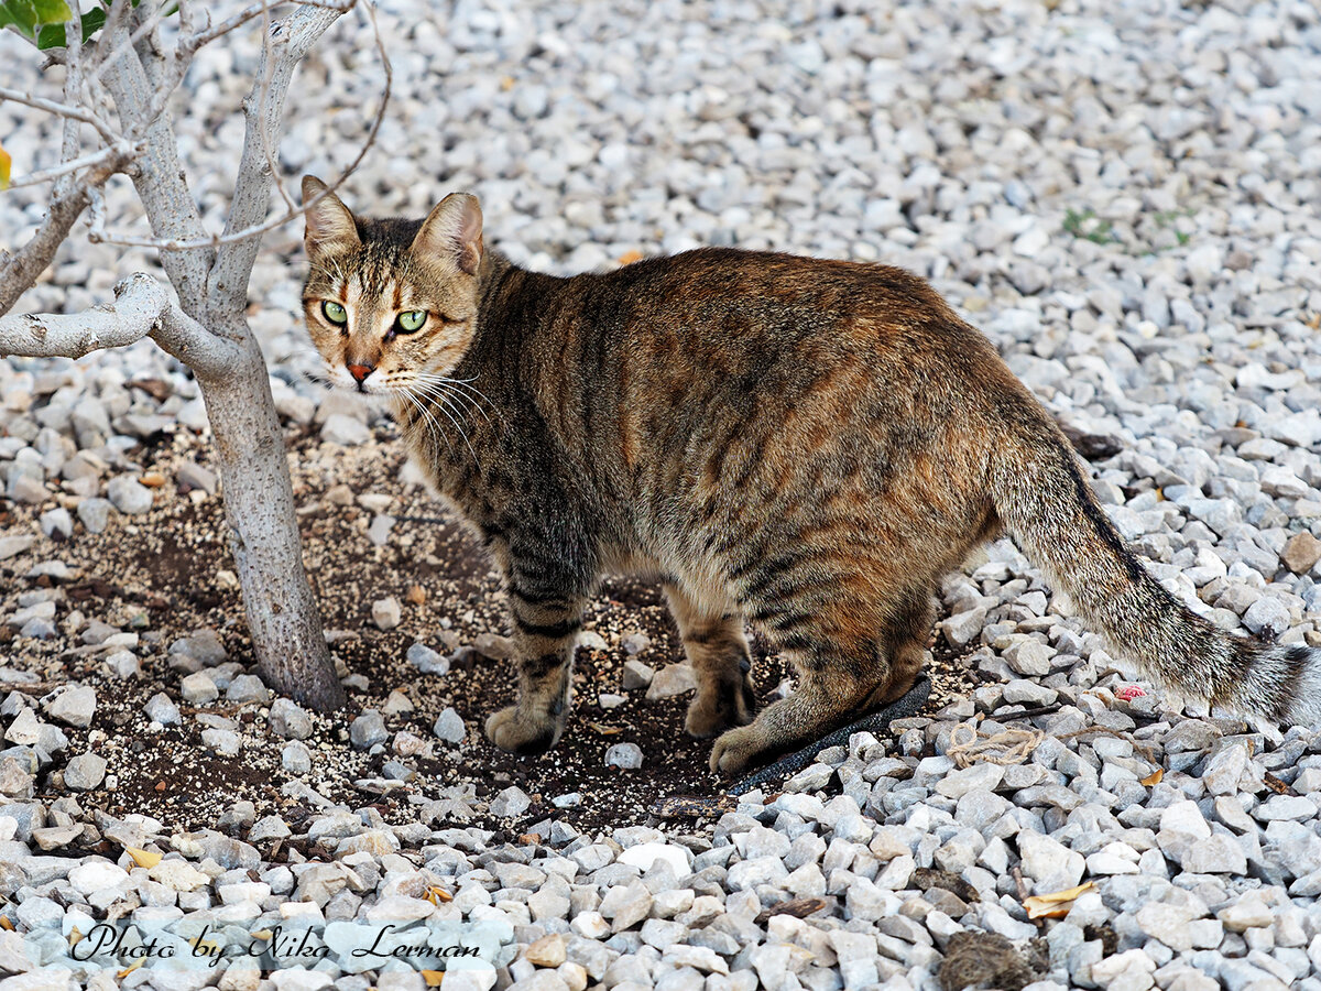
<instances>
[{"instance_id":1,"label":"gray tree trunk with its upright forked limbs, excluding side branches","mask_svg":"<svg viewBox=\"0 0 1321 991\"><path fill-rule=\"evenodd\" d=\"M339 13L300 7L276 25L276 37L244 104L250 123L230 217L234 230L250 226L254 217L260 219L269 200L271 174L256 128L269 127L272 135L279 135L295 65ZM107 46L123 45L127 30L120 25L119 37L104 40ZM139 50L129 46L103 77L125 128L151 112L155 94L141 61L151 52L147 45ZM269 58L275 65L268 71ZM206 231L176 149L169 118L156 118L147 129L133 184L155 237L197 242L206 238ZM193 367L202 388L215 436L229 544L258 670L275 691L332 710L343 704L345 694L303 566L284 437L266 361L244 320L256 242L254 237L219 251L211 246L162 251L161 264L178 292L182 314L206 333L172 336L169 332L178 329L174 321L164 326L157 341Z\"/></svg>"}]
</instances>

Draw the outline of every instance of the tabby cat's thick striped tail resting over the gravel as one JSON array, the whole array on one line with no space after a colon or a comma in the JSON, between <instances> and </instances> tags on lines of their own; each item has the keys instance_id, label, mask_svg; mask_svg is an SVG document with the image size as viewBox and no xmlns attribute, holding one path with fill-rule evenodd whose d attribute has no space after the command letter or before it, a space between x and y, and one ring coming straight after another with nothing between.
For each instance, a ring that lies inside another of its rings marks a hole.
<instances>
[{"instance_id":1,"label":"tabby cat's thick striped tail resting over the gravel","mask_svg":"<svg viewBox=\"0 0 1321 991\"><path fill-rule=\"evenodd\" d=\"M1004 436L989 485L1022 551L1155 682L1276 725L1321 724L1321 650L1231 636L1180 603L1124 546L1048 416Z\"/></svg>"}]
</instances>

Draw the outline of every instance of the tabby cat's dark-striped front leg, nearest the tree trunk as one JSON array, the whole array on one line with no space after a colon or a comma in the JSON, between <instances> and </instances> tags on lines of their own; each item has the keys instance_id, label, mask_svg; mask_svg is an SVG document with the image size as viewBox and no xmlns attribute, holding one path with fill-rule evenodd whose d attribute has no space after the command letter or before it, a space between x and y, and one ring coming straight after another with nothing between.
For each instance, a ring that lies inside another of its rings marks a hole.
<instances>
[{"instance_id":1,"label":"tabby cat's dark-striped front leg, nearest the tree trunk","mask_svg":"<svg viewBox=\"0 0 1321 991\"><path fill-rule=\"evenodd\" d=\"M585 597L548 595L513 584L514 665L518 702L486 720L486 736L502 751L546 753L559 743L573 695L573 651Z\"/></svg>"}]
</instances>

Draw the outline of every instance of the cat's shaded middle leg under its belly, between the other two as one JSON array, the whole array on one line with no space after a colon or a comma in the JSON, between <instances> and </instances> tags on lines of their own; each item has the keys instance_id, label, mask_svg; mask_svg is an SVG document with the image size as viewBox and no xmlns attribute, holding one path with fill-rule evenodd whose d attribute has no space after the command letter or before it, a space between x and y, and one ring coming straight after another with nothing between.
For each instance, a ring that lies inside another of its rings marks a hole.
<instances>
[{"instance_id":1,"label":"cat's shaded middle leg under its belly, between the other two","mask_svg":"<svg viewBox=\"0 0 1321 991\"><path fill-rule=\"evenodd\" d=\"M664 592L697 675L684 727L692 736L707 737L746 725L756 715L757 696L742 616L731 610L732 604L703 603L676 583L666 583Z\"/></svg>"}]
</instances>

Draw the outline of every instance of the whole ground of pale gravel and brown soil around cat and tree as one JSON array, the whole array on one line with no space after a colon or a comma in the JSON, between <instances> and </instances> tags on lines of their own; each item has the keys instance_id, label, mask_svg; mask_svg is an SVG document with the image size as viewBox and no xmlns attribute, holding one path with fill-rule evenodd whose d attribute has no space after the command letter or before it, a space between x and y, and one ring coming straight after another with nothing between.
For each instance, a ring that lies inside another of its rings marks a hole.
<instances>
[{"instance_id":1,"label":"whole ground of pale gravel and brown soil around cat and tree","mask_svg":"<svg viewBox=\"0 0 1321 991\"><path fill-rule=\"evenodd\" d=\"M493 243L563 272L696 244L911 268L1063 423L1118 441L1094 485L1172 591L1321 645L1314 4L396 0L380 25L396 102L353 206L469 189ZM188 82L180 141L213 223L254 63L248 38ZM346 18L301 79L291 178L353 156L382 79L370 28ZM13 104L0 141L16 173L58 144ZM129 206L110 190L112 226ZM0 198L3 230L40 214ZM151 266L74 243L21 305L81 309ZM188 375L151 345L0 359L0 991L435 979L355 957L365 929L329 925L350 920L461 922L481 959L450 961L446 987L481 991L1321 991L1321 735L1135 683L1008 543L943 588L931 711L774 791L686 770L683 671L630 584L584 651L581 770L498 764L477 733L503 690L494 585L398 477L390 424L301 378L301 271L297 231L269 237L252 321L341 721L246 670ZM774 658L758 674L781 690ZM675 696L647 700L657 679ZM642 766L606 774L614 740ZM659 815L676 797L695 801ZM71 959L66 937L104 920L262 933L289 966ZM309 921L314 957L271 937Z\"/></svg>"}]
</instances>

